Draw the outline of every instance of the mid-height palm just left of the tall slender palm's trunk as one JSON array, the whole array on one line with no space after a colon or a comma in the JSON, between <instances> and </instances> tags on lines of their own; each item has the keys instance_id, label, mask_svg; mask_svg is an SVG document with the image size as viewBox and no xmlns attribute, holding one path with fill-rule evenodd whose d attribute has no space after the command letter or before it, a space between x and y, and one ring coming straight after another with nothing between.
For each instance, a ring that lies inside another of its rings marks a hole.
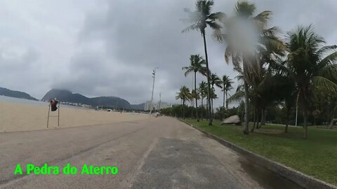
<instances>
[{"instance_id":1,"label":"mid-height palm just left of the tall slender palm's trunk","mask_svg":"<svg viewBox=\"0 0 337 189\"><path fill-rule=\"evenodd\" d=\"M197 72L205 74L206 73L206 67L205 60L200 55L191 55L190 57L190 66L183 67L183 70L185 71L185 77L188 75L188 73L194 73L194 90L197 91ZM198 116L198 100L195 99L195 107L196 107L196 116L197 121L199 122L199 116Z\"/></svg>"}]
</instances>

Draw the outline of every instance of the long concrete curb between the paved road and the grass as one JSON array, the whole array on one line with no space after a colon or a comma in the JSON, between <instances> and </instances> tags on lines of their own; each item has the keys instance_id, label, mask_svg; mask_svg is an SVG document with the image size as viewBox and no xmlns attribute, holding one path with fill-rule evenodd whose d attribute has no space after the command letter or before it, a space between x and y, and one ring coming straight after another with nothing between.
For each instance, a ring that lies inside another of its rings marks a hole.
<instances>
[{"instance_id":1,"label":"long concrete curb between the paved road and the grass","mask_svg":"<svg viewBox=\"0 0 337 189\"><path fill-rule=\"evenodd\" d=\"M275 172L281 176L284 176L286 179L289 179L290 181L297 183L299 186L303 188L337 189L337 186L333 186L331 183L326 183L319 179L315 179L312 176L308 176L306 174L296 171L295 169L286 167L278 162L264 158L261 155L252 153L251 151L247 151L246 149L242 147L232 144L230 141L226 141L225 139L216 137L215 135L209 132L206 132L204 130L201 130L200 128L195 127L194 125L190 123L186 123L183 120L180 120L180 121L206 134L207 137L218 141L220 144L223 144L223 146L227 146L228 148L231 148L233 151L240 153L241 155L244 155L244 157L251 160L252 162L256 162L258 165L265 167L266 169L269 169L270 171Z\"/></svg>"}]
</instances>

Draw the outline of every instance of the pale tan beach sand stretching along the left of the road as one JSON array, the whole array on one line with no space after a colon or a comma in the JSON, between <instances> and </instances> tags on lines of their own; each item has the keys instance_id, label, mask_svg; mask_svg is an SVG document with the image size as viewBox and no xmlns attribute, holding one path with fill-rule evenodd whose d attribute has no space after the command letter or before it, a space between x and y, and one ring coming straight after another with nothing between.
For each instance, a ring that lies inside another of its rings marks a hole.
<instances>
[{"instance_id":1,"label":"pale tan beach sand stretching along the left of the road","mask_svg":"<svg viewBox=\"0 0 337 189\"><path fill-rule=\"evenodd\" d=\"M50 113L48 129L58 127L58 111ZM0 132L46 130L48 104L38 106L0 102ZM119 113L95 111L83 108L67 108L60 105L60 128L107 123L131 122L150 118L143 113Z\"/></svg>"}]
</instances>

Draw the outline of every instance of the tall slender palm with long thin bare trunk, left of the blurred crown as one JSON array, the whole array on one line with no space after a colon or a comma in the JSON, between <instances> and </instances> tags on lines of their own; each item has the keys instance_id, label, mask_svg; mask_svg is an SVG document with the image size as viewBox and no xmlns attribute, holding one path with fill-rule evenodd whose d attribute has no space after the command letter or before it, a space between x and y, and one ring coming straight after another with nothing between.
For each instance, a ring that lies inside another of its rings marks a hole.
<instances>
[{"instance_id":1,"label":"tall slender palm with long thin bare trunk, left of the blurred crown","mask_svg":"<svg viewBox=\"0 0 337 189\"><path fill-rule=\"evenodd\" d=\"M195 10L191 11L185 8L185 12L189 14L189 18L185 19L185 21L192 23L189 27L183 29L183 32L190 30L198 30L201 32L201 36L204 39L204 51L206 57L206 75L207 75L207 95L210 95L211 85L209 83L209 57L207 55L207 45L206 45L206 27L210 27L211 29L218 30L220 29L220 25L216 22L216 20L220 20L225 15L223 13L211 13L211 8L213 6L213 0L197 0L195 3ZM208 98L208 101L210 99ZM212 125L212 116L211 116L211 103L209 101L209 125Z\"/></svg>"}]
</instances>

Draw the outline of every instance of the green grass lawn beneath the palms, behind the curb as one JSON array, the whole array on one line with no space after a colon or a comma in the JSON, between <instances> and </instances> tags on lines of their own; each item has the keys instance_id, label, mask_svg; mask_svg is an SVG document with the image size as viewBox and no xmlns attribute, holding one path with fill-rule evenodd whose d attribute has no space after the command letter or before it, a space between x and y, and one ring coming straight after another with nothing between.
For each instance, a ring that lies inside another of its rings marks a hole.
<instances>
[{"instance_id":1,"label":"green grass lawn beneath the palms, behind the curb","mask_svg":"<svg viewBox=\"0 0 337 189\"><path fill-rule=\"evenodd\" d=\"M337 186L336 130L309 127L308 139L305 140L302 138L302 127L289 127L288 133L283 133L284 127L282 126L266 125L262 130L281 132L244 135L242 126L220 125L217 120L213 126L209 126L205 120L199 123L197 120L186 119L184 121L270 160Z\"/></svg>"}]
</instances>

